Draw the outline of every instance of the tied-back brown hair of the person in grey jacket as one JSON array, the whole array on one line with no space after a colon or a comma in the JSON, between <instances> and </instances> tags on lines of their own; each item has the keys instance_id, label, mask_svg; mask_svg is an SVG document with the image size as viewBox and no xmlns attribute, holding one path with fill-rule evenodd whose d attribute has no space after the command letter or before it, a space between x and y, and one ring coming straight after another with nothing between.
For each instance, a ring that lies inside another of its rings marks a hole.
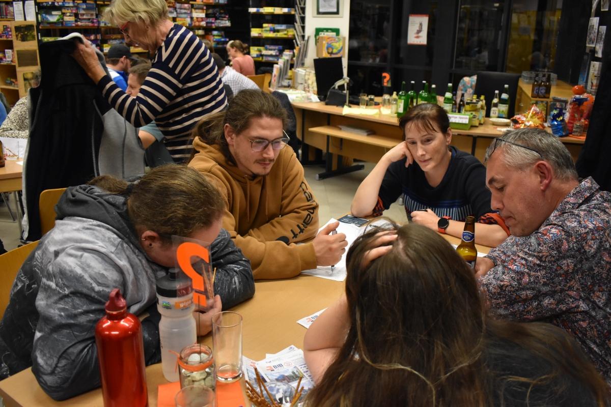
<instances>
[{"instance_id":1,"label":"tied-back brown hair of the person in grey jacket","mask_svg":"<svg viewBox=\"0 0 611 407\"><path fill-rule=\"evenodd\" d=\"M219 190L186 165L153 168L133 184L109 175L93 178L88 184L127 195L133 226L156 232L164 242L171 242L172 235L189 236L211 226L225 209Z\"/></svg>"}]
</instances>

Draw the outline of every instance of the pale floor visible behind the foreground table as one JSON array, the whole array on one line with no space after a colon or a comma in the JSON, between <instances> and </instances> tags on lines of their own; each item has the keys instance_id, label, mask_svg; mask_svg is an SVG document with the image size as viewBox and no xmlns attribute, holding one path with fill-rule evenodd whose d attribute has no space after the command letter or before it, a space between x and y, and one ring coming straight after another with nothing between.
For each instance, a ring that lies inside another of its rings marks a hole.
<instances>
[{"instance_id":1,"label":"pale floor visible behind the foreground table","mask_svg":"<svg viewBox=\"0 0 611 407\"><path fill-rule=\"evenodd\" d=\"M316 174L323 172L324 168L320 166L305 167L305 178L312 187L316 200L320 208L318 217L320 225L324 225L330 218L340 217L350 211L350 203L356 192L360 182L367 176L373 168L373 164L365 163L365 169L339 175L332 178L316 181ZM11 197L10 203L14 212L14 201ZM393 204L389 211L384 212L384 215L402 222L405 220L405 211L403 207ZM16 222L12 222L9 212L0 199L0 239L4 242L6 250L12 250L21 244L19 241L19 228Z\"/></svg>"}]
</instances>

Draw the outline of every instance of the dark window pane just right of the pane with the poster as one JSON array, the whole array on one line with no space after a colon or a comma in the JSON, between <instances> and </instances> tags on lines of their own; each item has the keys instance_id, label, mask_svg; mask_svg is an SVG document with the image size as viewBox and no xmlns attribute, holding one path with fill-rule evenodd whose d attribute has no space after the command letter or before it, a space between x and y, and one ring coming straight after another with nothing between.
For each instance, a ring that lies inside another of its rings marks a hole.
<instances>
[{"instance_id":1,"label":"dark window pane just right of the pane with the poster","mask_svg":"<svg viewBox=\"0 0 611 407\"><path fill-rule=\"evenodd\" d=\"M502 67L498 66L502 19L503 1L460 2L456 29L455 69L502 71Z\"/></svg>"}]
</instances>

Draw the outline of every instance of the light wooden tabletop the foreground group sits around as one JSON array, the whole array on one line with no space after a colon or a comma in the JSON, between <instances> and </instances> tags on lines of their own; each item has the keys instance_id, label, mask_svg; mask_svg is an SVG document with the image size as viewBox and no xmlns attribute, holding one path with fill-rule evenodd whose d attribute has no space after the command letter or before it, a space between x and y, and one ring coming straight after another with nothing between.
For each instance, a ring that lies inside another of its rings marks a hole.
<instances>
[{"instance_id":1,"label":"light wooden tabletop the foreground group sits around","mask_svg":"<svg viewBox=\"0 0 611 407\"><path fill-rule=\"evenodd\" d=\"M450 243L460 239L443 235ZM489 248L477 245L481 253ZM265 358L266 353L276 353L289 345L303 347L305 329L296 321L331 305L340 297L344 283L323 278L299 275L286 280L257 281L255 296L232 311L243 318L243 353L251 359ZM203 343L212 346L210 335ZM148 405L157 405L157 386L167 381L161 372L161 364L147 367ZM56 402L42 390L32 369L0 381L0 396L6 407L24 406L103 406L100 389L90 391L63 402Z\"/></svg>"}]
</instances>

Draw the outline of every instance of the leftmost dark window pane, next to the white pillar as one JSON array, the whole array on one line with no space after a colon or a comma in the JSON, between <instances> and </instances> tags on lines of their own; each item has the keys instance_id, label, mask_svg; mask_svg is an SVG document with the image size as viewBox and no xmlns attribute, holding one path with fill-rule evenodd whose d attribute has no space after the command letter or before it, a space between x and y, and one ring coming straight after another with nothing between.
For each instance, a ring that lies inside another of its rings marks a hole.
<instances>
[{"instance_id":1,"label":"leftmost dark window pane, next to the white pillar","mask_svg":"<svg viewBox=\"0 0 611 407\"><path fill-rule=\"evenodd\" d=\"M348 59L384 63L389 41L390 0L352 0Z\"/></svg>"}]
</instances>

